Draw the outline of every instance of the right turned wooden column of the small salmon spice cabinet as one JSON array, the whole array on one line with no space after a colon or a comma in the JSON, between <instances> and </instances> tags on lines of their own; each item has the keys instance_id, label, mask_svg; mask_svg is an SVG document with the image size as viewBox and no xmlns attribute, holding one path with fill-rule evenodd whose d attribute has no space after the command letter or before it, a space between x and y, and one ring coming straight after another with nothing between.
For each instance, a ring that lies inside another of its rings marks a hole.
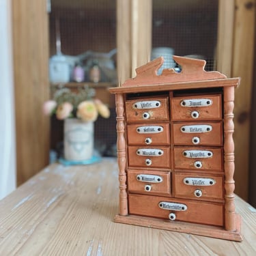
<instances>
[{"instance_id":1,"label":"right turned wooden column of the small salmon spice cabinet","mask_svg":"<svg viewBox=\"0 0 256 256\"><path fill-rule=\"evenodd\" d=\"M234 107L234 87L224 88L224 171L225 171L225 229L227 231L236 230L235 213L235 182L233 173L235 171L235 155L233 143L233 107Z\"/></svg>"}]
</instances>

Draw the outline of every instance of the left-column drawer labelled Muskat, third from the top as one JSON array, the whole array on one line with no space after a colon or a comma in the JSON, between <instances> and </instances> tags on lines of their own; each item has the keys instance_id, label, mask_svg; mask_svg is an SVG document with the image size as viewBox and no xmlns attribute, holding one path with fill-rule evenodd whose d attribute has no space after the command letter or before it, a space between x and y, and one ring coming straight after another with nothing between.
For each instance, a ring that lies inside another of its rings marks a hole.
<instances>
[{"instance_id":1,"label":"left-column drawer labelled Muskat, third from the top","mask_svg":"<svg viewBox=\"0 0 256 256\"><path fill-rule=\"evenodd\" d=\"M170 147L128 146L128 165L130 167L170 168L170 152Z\"/></svg>"}]
</instances>

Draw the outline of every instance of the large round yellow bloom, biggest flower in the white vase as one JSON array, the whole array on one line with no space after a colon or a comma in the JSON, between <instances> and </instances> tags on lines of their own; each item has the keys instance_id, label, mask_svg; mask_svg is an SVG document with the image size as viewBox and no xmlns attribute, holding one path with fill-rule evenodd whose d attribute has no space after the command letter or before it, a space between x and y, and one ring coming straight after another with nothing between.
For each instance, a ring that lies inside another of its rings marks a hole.
<instances>
[{"instance_id":1,"label":"large round yellow bloom, biggest flower in the white vase","mask_svg":"<svg viewBox=\"0 0 256 256\"><path fill-rule=\"evenodd\" d=\"M94 102L85 100L79 104L76 112L77 117L81 118L83 121L96 121L98 117L98 111Z\"/></svg>"}]
</instances>

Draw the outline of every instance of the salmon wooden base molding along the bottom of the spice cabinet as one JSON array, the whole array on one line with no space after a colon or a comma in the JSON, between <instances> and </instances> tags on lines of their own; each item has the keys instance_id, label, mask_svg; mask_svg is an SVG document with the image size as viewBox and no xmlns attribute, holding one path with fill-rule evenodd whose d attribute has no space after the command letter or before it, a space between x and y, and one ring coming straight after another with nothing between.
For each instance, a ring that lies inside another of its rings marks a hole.
<instances>
[{"instance_id":1,"label":"salmon wooden base molding along the bottom of the spice cabinet","mask_svg":"<svg viewBox=\"0 0 256 256\"><path fill-rule=\"evenodd\" d=\"M114 218L115 223L137 225L141 227L152 227L154 229L165 229L169 231L190 233L198 236L208 236L210 238L220 238L241 242L241 216L236 214L236 231L227 231L223 227L210 225L200 225L195 223L184 223L181 221L169 221L159 218L151 218L138 215L121 216L117 214Z\"/></svg>"}]
</instances>

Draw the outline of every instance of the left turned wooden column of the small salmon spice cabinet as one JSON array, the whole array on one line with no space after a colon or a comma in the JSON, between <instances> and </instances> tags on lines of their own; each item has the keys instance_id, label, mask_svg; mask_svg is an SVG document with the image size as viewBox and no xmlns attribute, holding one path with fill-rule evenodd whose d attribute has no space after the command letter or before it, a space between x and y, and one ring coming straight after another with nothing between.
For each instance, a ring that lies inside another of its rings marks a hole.
<instances>
[{"instance_id":1,"label":"left turned wooden column of the small salmon spice cabinet","mask_svg":"<svg viewBox=\"0 0 256 256\"><path fill-rule=\"evenodd\" d=\"M124 137L124 98L122 94L115 95L117 113L117 162L119 167L119 214L128 215L126 192L126 140Z\"/></svg>"}]
</instances>

